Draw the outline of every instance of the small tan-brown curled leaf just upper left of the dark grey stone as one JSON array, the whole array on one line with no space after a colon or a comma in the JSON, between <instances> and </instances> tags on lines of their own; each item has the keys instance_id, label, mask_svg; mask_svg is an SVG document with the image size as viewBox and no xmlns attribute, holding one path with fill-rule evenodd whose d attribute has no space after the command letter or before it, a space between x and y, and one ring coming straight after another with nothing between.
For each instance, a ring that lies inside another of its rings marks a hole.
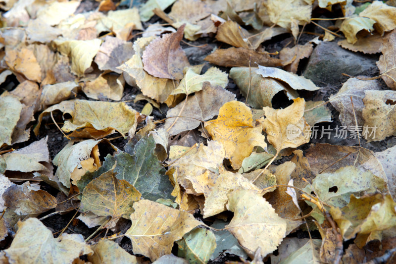
<instances>
[{"instance_id":1,"label":"small tan-brown curled leaf just upper left of the dark grey stone","mask_svg":"<svg viewBox=\"0 0 396 264\"><path fill-rule=\"evenodd\" d=\"M283 68L287 71L297 73L298 63L301 59L309 57L313 51L312 43L306 43L305 45L296 45L293 48L283 48L279 52L279 58L283 61L292 61L290 64L285 65ZM257 63L258 65L275 67L279 65L265 65Z\"/></svg>"}]
</instances>

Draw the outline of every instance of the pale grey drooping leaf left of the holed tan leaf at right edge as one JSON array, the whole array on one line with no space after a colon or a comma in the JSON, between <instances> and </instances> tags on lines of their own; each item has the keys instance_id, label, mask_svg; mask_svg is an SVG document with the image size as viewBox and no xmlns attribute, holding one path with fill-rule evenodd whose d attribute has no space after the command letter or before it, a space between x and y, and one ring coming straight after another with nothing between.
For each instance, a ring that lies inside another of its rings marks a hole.
<instances>
[{"instance_id":1,"label":"pale grey drooping leaf left of the holed tan leaf at right edge","mask_svg":"<svg viewBox=\"0 0 396 264\"><path fill-rule=\"evenodd\" d=\"M366 77L363 76L363 78ZM362 116L364 91L380 89L380 83L377 80L362 81L349 78L337 94L330 96L329 101L340 112L339 118L342 125L346 126L349 131L356 131L355 116L358 126L363 126L364 123ZM354 112L350 97L352 97Z\"/></svg>"}]
</instances>

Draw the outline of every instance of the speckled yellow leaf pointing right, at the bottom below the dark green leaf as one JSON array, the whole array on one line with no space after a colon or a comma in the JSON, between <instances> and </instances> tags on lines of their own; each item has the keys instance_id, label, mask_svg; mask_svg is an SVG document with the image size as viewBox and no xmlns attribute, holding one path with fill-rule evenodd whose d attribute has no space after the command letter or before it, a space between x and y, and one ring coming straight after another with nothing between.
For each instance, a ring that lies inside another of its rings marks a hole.
<instances>
[{"instance_id":1,"label":"speckled yellow leaf pointing right, at the bottom below the dark green leaf","mask_svg":"<svg viewBox=\"0 0 396 264\"><path fill-rule=\"evenodd\" d=\"M201 224L187 211L179 211L149 200L134 204L132 226L125 236L132 241L133 252L155 261L170 254L173 243Z\"/></svg>"}]
</instances>

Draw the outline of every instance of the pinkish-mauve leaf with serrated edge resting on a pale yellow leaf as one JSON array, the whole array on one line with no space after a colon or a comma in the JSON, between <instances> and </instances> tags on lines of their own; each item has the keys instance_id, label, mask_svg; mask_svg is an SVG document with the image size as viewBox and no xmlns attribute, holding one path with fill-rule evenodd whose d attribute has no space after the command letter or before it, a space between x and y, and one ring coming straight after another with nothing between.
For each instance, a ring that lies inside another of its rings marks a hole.
<instances>
[{"instance_id":1,"label":"pinkish-mauve leaf with serrated edge resting on a pale yellow leaf","mask_svg":"<svg viewBox=\"0 0 396 264\"><path fill-rule=\"evenodd\" d=\"M176 33L164 34L148 44L142 56L145 71L158 78L183 78L184 67L190 66L180 47L183 30L184 26L181 26Z\"/></svg>"}]
</instances>

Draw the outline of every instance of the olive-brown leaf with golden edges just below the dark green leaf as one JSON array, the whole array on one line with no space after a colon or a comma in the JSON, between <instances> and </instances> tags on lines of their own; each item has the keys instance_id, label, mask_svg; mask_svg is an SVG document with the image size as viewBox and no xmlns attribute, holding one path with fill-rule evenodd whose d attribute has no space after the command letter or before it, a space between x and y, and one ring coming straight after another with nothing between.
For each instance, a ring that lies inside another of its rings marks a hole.
<instances>
[{"instance_id":1,"label":"olive-brown leaf with golden edges just below the dark green leaf","mask_svg":"<svg viewBox=\"0 0 396 264\"><path fill-rule=\"evenodd\" d=\"M140 200L141 194L126 180L116 178L109 170L92 180L83 191L81 211L91 211L100 216L128 218L133 203Z\"/></svg>"}]
</instances>

